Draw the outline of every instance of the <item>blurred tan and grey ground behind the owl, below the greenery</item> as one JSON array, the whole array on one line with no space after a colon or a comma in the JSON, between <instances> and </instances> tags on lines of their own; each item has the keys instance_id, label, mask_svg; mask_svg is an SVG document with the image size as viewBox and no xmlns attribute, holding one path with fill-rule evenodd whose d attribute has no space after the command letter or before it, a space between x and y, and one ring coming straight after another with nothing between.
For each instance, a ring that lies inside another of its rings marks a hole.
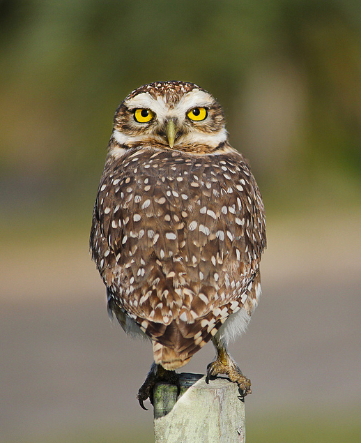
<instances>
[{"instance_id":1,"label":"blurred tan and grey ground behind the owl, below the greenery","mask_svg":"<svg viewBox=\"0 0 361 443\"><path fill-rule=\"evenodd\" d=\"M231 346L252 379L248 419L361 412L359 228L358 211L268 220L261 303ZM3 442L71 429L151 432L152 411L135 398L151 346L109 323L87 235L1 249ZM183 370L204 373L211 359L209 344Z\"/></svg>"}]
</instances>

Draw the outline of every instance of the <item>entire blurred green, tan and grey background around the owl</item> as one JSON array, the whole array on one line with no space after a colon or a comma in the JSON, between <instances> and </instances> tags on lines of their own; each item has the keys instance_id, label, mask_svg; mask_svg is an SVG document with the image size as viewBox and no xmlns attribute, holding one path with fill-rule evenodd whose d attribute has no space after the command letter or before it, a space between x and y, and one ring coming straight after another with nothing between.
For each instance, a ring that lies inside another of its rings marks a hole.
<instances>
[{"instance_id":1,"label":"entire blurred green, tan and grey background around the owl","mask_svg":"<svg viewBox=\"0 0 361 443\"><path fill-rule=\"evenodd\" d=\"M153 441L151 347L109 323L88 236L114 111L156 80L222 103L266 204L247 441L360 441L359 0L0 0L0 440Z\"/></svg>"}]
</instances>

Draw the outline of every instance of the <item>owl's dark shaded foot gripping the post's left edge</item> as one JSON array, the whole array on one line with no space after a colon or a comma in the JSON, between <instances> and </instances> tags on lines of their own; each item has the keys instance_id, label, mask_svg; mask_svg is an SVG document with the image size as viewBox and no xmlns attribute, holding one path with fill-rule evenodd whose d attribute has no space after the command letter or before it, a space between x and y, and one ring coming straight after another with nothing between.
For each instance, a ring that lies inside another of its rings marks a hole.
<instances>
[{"instance_id":1,"label":"owl's dark shaded foot gripping the post's left edge","mask_svg":"<svg viewBox=\"0 0 361 443\"><path fill-rule=\"evenodd\" d=\"M177 386L178 392L177 396L179 396L179 393L181 392L181 384L179 383L179 376L174 370L166 370L161 365L156 365L153 363L151 366L151 370L148 372L148 375L146 376L146 380L144 383L140 386L139 391L137 393L137 399L139 401L139 405L141 407L148 411L147 408L144 406L144 400L149 398L151 404L153 405L154 398L153 398L153 389L156 383L158 382L167 382L169 384L174 384Z\"/></svg>"}]
</instances>

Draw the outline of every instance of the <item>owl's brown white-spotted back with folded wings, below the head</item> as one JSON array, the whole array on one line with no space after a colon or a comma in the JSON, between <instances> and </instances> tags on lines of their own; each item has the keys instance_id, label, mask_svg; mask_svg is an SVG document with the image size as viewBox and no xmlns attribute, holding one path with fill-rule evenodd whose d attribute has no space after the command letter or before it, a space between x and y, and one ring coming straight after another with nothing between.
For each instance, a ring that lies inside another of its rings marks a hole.
<instances>
[{"instance_id":1,"label":"owl's brown white-spotted back with folded wings, below the head","mask_svg":"<svg viewBox=\"0 0 361 443\"><path fill-rule=\"evenodd\" d=\"M108 161L93 223L100 234L93 255L105 283L143 315L168 297L159 306L163 317L184 307L187 316L203 315L217 297L226 303L242 294L263 248L254 186L238 153L148 150Z\"/></svg>"}]
</instances>

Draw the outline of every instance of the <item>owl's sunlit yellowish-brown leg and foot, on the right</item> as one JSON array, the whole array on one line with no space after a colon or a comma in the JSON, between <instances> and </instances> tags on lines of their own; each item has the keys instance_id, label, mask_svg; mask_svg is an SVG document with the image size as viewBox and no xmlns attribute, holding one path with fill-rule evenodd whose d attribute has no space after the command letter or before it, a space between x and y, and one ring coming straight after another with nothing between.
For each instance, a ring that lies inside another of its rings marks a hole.
<instances>
[{"instance_id":1,"label":"owl's sunlit yellowish-brown leg and foot, on the right","mask_svg":"<svg viewBox=\"0 0 361 443\"><path fill-rule=\"evenodd\" d=\"M220 338L218 334L215 334L212 341L217 350L217 356L215 361L212 361L212 363L209 363L207 366L206 382L209 382L210 377L216 377L218 374L226 374L231 382L238 384L240 390L243 391L243 396L252 393L251 380L243 375L236 361L232 359L224 339Z\"/></svg>"}]
</instances>

